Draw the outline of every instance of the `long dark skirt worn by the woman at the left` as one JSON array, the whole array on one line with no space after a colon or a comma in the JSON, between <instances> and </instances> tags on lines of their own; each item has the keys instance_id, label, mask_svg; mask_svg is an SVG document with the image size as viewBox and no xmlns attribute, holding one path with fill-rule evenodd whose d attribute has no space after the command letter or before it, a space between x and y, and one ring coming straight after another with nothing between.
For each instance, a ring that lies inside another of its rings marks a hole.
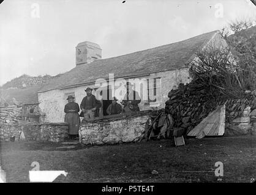
<instances>
[{"instance_id":1,"label":"long dark skirt worn by the woman at the left","mask_svg":"<svg viewBox=\"0 0 256 195\"><path fill-rule=\"evenodd\" d=\"M80 117L78 113L66 113L65 122L69 123L69 135L78 135Z\"/></svg>"}]
</instances>

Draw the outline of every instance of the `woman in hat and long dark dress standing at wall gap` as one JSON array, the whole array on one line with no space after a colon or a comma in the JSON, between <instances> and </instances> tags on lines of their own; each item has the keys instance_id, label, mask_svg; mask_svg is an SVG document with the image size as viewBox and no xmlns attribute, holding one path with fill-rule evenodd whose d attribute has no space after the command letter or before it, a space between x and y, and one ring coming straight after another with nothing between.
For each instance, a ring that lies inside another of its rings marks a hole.
<instances>
[{"instance_id":1,"label":"woman in hat and long dark dress standing at wall gap","mask_svg":"<svg viewBox=\"0 0 256 195\"><path fill-rule=\"evenodd\" d=\"M65 105L64 112L65 122L69 124L69 136L71 139L78 137L78 130L80 125L80 117L78 112L80 111L79 105L74 102L73 96L68 96L68 103Z\"/></svg>"}]
</instances>

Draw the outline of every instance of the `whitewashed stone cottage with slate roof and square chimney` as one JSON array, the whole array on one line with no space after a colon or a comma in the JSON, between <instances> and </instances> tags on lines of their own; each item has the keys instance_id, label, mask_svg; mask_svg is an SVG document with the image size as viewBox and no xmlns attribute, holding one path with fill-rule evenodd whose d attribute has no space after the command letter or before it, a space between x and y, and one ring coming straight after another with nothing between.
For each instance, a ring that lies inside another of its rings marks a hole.
<instances>
[{"instance_id":1,"label":"whitewashed stone cottage with slate roof and square chimney","mask_svg":"<svg viewBox=\"0 0 256 195\"><path fill-rule=\"evenodd\" d=\"M67 96L72 94L75 101L80 104L85 96L86 87L97 91L97 79L107 80L108 85L102 87L102 91L107 94L115 94L113 91L116 86L114 89L110 87L111 82L132 79L134 83L139 84L136 86L143 88L135 88L142 99L140 110L164 108L165 101L168 100L168 91L176 88L179 83L190 82L189 65L195 60L195 52L212 43L227 44L219 31L213 31L177 43L109 59L101 59L102 49L98 44L89 41L79 43L75 48L75 67L51 80L38 92L39 107L41 112L45 113L45 122L63 121ZM154 94L154 99L149 98L149 94ZM110 99L102 100L100 116L106 115L110 102Z\"/></svg>"}]
</instances>

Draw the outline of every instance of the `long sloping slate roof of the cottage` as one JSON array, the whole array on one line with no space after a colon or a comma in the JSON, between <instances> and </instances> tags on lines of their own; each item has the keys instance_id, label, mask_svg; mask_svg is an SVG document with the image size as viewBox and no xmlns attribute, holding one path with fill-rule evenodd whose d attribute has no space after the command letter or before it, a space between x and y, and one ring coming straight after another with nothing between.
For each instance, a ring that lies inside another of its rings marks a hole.
<instances>
[{"instance_id":1,"label":"long sloping slate roof of the cottage","mask_svg":"<svg viewBox=\"0 0 256 195\"><path fill-rule=\"evenodd\" d=\"M217 32L215 30L177 43L78 65L51 80L39 92L95 82L99 78L108 78L109 73L114 73L118 78L185 68L197 49L208 43Z\"/></svg>"}]
</instances>

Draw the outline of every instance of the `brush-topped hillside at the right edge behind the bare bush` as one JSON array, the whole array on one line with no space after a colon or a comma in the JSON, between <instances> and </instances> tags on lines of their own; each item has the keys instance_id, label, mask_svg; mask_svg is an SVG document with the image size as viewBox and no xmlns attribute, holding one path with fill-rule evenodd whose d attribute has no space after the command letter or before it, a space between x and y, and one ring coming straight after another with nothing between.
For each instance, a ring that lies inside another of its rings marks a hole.
<instances>
[{"instance_id":1,"label":"brush-topped hillside at the right edge behind the bare bush","mask_svg":"<svg viewBox=\"0 0 256 195\"><path fill-rule=\"evenodd\" d=\"M241 87L256 88L256 19L234 21L222 29L222 36L228 43L233 57L240 68Z\"/></svg>"}]
</instances>

